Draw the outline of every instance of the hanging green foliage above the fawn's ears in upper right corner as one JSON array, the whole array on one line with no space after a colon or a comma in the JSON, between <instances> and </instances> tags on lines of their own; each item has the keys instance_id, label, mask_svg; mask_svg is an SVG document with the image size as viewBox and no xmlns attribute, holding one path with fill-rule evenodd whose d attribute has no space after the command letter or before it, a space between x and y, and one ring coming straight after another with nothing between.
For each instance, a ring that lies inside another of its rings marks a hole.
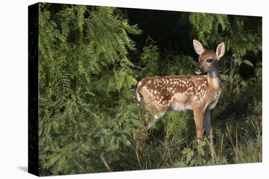
<instances>
[{"instance_id":1,"label":"hanging green foliage above the fawn's ears in upper right corner","mask_svg":"<svg viewBox=\"0 0 269 179\"><path fill-rule=\"evenodd\" d=\"M238 56L244 56L248 51L258 53L262 50L260 20L251 21L252 24L259 24L255 30L249 29L247 23L251 18L246 16L191 13L189 20L195 36L207 47L224 41L226 51Z\"/></svg>"}]
</instances>

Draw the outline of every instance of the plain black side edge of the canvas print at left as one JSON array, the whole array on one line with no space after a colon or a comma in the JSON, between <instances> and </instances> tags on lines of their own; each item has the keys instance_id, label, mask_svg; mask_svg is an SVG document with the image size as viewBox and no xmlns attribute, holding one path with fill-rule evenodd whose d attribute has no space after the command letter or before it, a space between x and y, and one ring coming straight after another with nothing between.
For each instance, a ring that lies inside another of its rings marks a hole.
<instances>
[{"instance_id":1,"label":"plain black side edge of the canvas print at left","mask_svg":"<svg viewBox=\"0 0 269 179\"><path fill-rule=\"evenodd\" d=\"M28 6L28 166L29 173L38 175L38 110L39 110L39 3Z\"/></svg>"}]
</instances>

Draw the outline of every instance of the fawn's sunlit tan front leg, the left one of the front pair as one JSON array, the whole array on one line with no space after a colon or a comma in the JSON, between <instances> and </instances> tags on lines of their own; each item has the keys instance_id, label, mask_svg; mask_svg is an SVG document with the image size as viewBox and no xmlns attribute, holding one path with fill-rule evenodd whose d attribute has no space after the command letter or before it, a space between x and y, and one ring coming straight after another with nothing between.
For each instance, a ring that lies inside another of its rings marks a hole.
<instances>
[{"instance_id":1,"label":"fawn's sunlit tan front leg, the left one of the front pair","mask_svg":"<svg viewBox=\"0 0 269 179\"><path fill-rule=\"evenodd\" d=\"M203 139L203 110L193 110L198 142Z\"/></svg>"}]
</instances>

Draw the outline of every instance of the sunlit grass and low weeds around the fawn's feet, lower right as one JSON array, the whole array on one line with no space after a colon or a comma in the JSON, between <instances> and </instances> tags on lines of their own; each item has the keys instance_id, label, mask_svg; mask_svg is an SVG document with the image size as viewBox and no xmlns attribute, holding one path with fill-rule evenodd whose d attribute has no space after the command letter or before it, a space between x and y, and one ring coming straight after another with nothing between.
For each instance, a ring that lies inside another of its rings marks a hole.
<instances>
[{"instance_id":1,"label":"sunlit grass and low weeds around the fawn's feet, lower right","mask_svg":"<svg viewBox=\"0 0 269 179\"><path fill-rule=\"evenodd\" d=\"M262 162L261 107L260 102L247 117L226 123L223 133L220 130L214 131L216 155L213 157L206 138L201 143L196 139L177 141L166 137L151 138L139 150L133 147L130 151L121 151L124 154L119 159L122 164L115 164L114 171L119 168L121 171L146 170Z\"/></svg>"}]
</instances>

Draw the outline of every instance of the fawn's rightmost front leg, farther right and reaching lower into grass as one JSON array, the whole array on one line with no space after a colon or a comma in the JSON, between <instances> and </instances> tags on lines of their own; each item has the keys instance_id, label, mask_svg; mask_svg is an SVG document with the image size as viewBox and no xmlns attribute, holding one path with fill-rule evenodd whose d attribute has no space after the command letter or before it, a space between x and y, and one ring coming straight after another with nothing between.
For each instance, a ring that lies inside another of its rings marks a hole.
<instances>
[{"instance_id":1,"label":"fawn's rightmost front leg, farther right and reaching lower into grass","mask_svg":"<svg viewBox=\"0 0 269 179\"><path fill-rule=\"evenodd\" d=\"M215 154L215 150L213 146L213 129L211 126L210 110L206 110L204 113L203 125L205 128L207 138L209 138L211 156L213 156Z\"/></svg>"}]
</instances>

